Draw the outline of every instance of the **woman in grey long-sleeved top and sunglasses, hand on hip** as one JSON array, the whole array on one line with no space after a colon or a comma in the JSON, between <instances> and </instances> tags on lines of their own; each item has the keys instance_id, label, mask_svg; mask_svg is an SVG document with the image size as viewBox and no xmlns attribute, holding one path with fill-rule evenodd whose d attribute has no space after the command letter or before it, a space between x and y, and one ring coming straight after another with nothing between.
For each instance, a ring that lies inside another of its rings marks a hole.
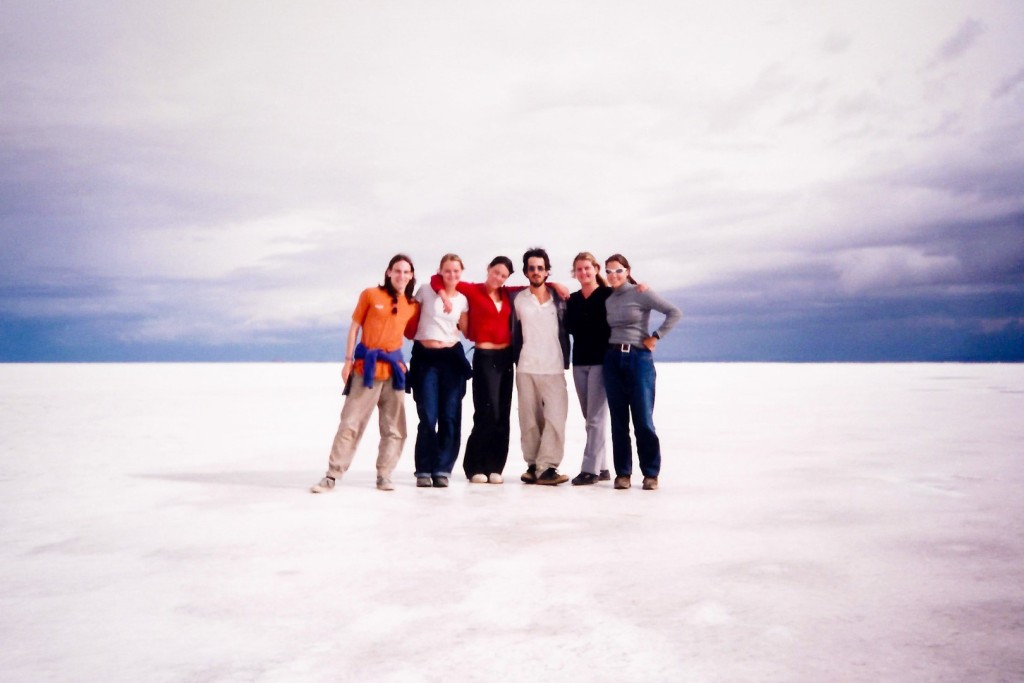
<instances>
[{"instance_id":1,"label":"woman in grey long-sleeved top and sunglasses, hand on hip","mask_svg":"<svg viewBox=\"0 0 1024 683\"><path fill-rule=\"evenodd\" d=\"M615 488L629 488L633 472L630 414L637 437L637 457L643 473L644 490L657 488L662 469L662 444L654 430L654 357L657 341L679 323L683 313L654 292L640 292L630 274L630 262L622 254L604 261L611 286L605 302L611 335L604 356L604 388L611 415L611 453L615 465ZM665 314L665 322L652 333L650 311Z\"/></svg>"}]
</instances>

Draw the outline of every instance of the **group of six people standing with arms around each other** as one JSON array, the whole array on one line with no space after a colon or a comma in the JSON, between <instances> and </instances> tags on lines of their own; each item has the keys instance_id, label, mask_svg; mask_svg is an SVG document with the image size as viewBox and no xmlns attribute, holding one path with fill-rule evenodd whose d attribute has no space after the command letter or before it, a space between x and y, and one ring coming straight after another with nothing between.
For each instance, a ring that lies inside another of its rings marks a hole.
<instances>
[{"instance_id":1,"label":"group of six people standing with arms around each other","mask_svg":"<svg viewBox=\"0 0 1024 683\"><path fill-rule=\"evenodd\" d=\"M587 425L583 465L572 484L611 478L605 444L610 416L613 486L632 485L632 422L643 488L656 489L662 453L653 423L652 352L682 317L680 310L637 285L622 254L605 259L607 279L592 254L578 254L572 275L581 289L571 294L564 285L549 282L551 261L541 248L523 254L522 271L529 283L524 287L505 284L513 272L505 256L492 260L482 283L462 282L464 267L457 255L445 254L429 284L416 290L412 259L396 254L384 284L360 293L341 372L345 402L328 471L312 493L334 489L351 464L374 407L381 435L377 487L393 489L391 475L407 438L407 391L419 418L416 484L447 486L462 443L462 402L470 378L473 427L463 457L467 479L504 481L514 381L526 462L520 479L538 485L564 483L568 477L558 467L565 450L565 371L570 366ZM652 310L665 319L649 332ZM474 345L472 365L460 332ZM408 368L401 357L403 338L414 340Z\"/></svg>"}]
</instances>

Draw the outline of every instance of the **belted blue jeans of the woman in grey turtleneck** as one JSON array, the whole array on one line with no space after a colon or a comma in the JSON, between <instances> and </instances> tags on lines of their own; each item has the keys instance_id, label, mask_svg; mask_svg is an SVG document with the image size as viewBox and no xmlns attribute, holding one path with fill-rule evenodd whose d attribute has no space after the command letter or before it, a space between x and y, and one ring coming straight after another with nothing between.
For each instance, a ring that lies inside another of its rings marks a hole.
<instances>
[{"instance_id":1,"label":"belted blue jeans of the woman in grey turtleneck","mask_svg":"<svg viewBox=\"0 0 1024 683\"><path fill-rule=\"evenodd\" d=\"M633 473L633 443L630 440L630 415L637 437L640 471L656 477L662 470L662 442L654 431L654 356L642 346L628 353L611 348L604 356L604 390L608 394L611 416L611 455L615 474Z\"/></svg>"}]
</instances>

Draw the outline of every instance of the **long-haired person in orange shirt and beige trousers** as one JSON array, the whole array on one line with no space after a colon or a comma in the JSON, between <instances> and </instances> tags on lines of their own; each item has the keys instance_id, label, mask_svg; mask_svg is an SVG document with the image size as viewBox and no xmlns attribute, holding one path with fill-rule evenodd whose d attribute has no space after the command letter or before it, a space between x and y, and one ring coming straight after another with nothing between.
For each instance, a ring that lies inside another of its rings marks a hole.
<instances>
[{"instance_id":1,"label":"long-haired person in orange shirt and beige trousers","mask_svg":"<svg viewBox=\"0 0 1024 683\"><path fill-rule=\"evenodd\" d=\"M391 472L406 443L406 364L402 337L416 332L419 303L413 298L416 269L413 260L396 254L384 272L384 284L362 291L352 313L341 379L345 404L331 447L327 474L310 490L334 490L337 479L352 463L362 432L376 407L381 440L377 450L377 487L392 490ZM361 338L360 338L361 333ZM358 340L358 343L356 343Z\"/></svg>"}]
</instances>

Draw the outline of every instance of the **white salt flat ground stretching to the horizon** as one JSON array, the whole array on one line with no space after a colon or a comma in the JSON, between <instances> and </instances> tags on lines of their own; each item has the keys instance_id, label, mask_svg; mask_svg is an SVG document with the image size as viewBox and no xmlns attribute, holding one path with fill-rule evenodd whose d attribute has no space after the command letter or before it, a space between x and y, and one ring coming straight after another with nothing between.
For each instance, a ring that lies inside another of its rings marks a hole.
<instances>
[{"instance_id":1,"label":"white salt flat ground stretching to the horizon","mask_svg":"<svg viewBox=\"0 0 1024 683\"><path fill-rule=\"evenodd\" d=\"M0 366L0 680L1024 680L1024 366L659 365L653 493L382 493L372 424L311 496L340 407Z\"/></svg>"}]
</instances>

